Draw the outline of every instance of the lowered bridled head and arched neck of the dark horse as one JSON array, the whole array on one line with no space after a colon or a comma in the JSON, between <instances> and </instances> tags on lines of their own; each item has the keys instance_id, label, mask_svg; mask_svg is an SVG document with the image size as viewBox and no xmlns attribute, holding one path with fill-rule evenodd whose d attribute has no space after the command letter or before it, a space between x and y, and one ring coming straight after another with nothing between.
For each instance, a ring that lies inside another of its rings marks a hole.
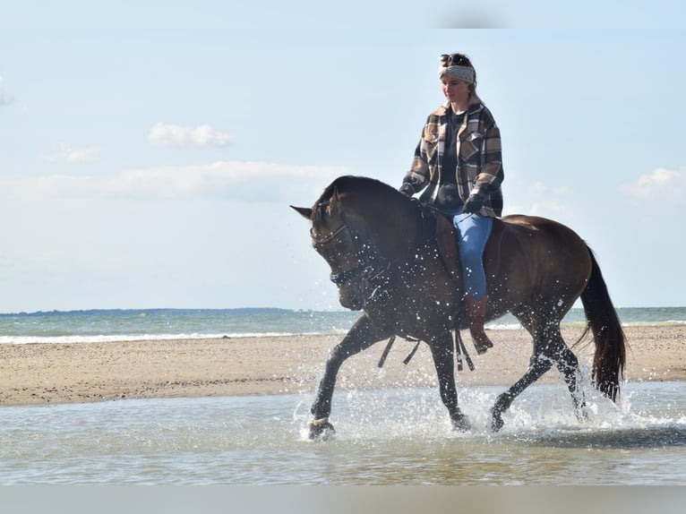
<instances>
[{"instance_id":1,"label":"lowered bridled head and arched neck of the dark horse","mask_svg":"<svg viewBox=\"0 0 686 514\"><path fill-rule=\"evenodd\" d=\"M415 202L371 178L341 176L312 208L291 207L312 222L313 247L329 263L347 309L361 309L388 281L391 263L416 247Z\"/></svg>"}]
</instances>

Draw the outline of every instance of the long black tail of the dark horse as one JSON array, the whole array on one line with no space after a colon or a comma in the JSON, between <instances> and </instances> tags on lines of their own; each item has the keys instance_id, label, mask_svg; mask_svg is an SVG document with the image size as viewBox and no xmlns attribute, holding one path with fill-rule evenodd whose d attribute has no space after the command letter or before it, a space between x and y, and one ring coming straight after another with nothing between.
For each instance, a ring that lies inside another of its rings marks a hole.
<instances>
[{"instance_id":1,"label":"long black tail of the dark horse","mask_svg":"<svg viewBox=\"0 0 686 514\"><path fill-rule=\"evenodd\" d=\"M586 289L581 294L581 303L586 313L587 328L596 343L593 357L593 383L600 392L613 401L620 390L626 364L626 337L622 323L614 310L607 292L607 286L593 251L587 246L591 258L591 276Z\"/></svg>"}]
</instances>

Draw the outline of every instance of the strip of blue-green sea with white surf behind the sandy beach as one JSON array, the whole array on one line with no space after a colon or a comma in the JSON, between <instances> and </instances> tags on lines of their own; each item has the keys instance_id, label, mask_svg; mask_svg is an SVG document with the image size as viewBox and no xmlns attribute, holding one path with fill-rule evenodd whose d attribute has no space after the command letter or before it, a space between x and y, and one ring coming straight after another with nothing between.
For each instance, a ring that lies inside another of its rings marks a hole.
<instances>
[{"instance_id":1,"label":"strip of blue-green sea with white surf behind the sandy beach","mask_svg":"<svg viewBox=\"0 0 686 514\"><path fill-rule=\"evenodd\" d=\"M627 307L617 313L624 326L686 325L686 307ZM0 344L77 343L174 338L251 338L344 335L360 315L275 307L230 309L90 309L0 313ZM563 326L583 326L573 308ZM489 330L521 330L511 314L486 324Z\"/></svg>"}]
</instances>

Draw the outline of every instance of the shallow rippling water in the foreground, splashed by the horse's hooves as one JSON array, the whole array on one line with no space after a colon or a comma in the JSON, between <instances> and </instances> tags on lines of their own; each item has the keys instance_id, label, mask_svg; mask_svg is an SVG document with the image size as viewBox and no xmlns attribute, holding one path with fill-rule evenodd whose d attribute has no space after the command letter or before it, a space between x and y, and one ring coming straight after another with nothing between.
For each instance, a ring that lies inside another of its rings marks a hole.
<instances>
[{"instance_id":1,"label":"shallow rippling water in the foreground, splashed by the horse's hooves","mask_svg":"<svg viewBox=\"0 0 686 514\"><path fill-rule=\"evenodd\" d=\"M465 388L454 433L433 389L337 391L333 441L307 441L312 396L0 408L0 484L686 484L686 384L630 383L615 407L529 388Z\"/></svg>"}]
</instances>

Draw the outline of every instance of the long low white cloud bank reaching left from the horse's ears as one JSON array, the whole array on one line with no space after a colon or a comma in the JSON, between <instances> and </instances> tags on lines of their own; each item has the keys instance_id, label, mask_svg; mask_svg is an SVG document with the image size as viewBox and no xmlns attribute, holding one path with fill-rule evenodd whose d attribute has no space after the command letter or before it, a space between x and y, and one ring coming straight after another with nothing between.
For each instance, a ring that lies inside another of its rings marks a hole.
<instances>
[{"instance_id":1,"label":"long low white cloud bank reaching left from the horse's ears","mask_svg":"<svg viewBox=\"0 0 686 514\"><path fill-rule=\"evenodd\" d=\"M0 197L216 197L311 205L331 180L345 173L340 167L218 161L209 165L129 169L111 176L0 177Z\"/></svg>"}]
</instances>

